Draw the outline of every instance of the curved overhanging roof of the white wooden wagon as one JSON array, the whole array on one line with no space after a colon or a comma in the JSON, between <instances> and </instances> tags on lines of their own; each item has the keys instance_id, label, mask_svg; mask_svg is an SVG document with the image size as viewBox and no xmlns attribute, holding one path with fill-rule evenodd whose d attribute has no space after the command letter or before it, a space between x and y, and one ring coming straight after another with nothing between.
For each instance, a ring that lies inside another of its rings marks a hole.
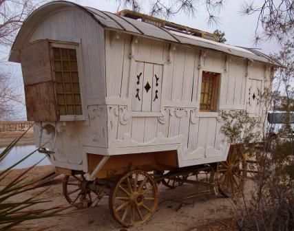
<instances>
[{"instance_id":1,"label":"curved overhanging roof of the white wooden wagon","mask_svg":"<svg viewBox=\"0 0 294 231\"><path fill-rule=\"evenodd\" d=\"M53 1L52 3L47 3L32 12L32 14L30 14L28 19L26 19L23 23L23 26L14 41L12 50L10 52L9 61L20 61L19 50L21 50L21 47L25 45L28 37L30 36L30 33L32 32L32 30L34 30L35 26L44 17L46 17L46 15L50 14L50 12L52 12L53 10L69 6L73 6L85 11L85 13L89 14L103 28L106 28L108 30L116 30L128 34L134 34L137 36L146 36L149 38L160 39L171 43L180 43L182 45L193 45L202 49L217 50L219 52L224 52L225 54L229 54L232 56L249 58L253 61L260 61L263 63L269 63L270 65L280 66L280 63L277 63L277 61L274 61L271 57L267 56L266 54L262 54L262 52L254 50L252 48L236 47L233 45L211 41L209 39L203 39L198 36L174 32L171 30L167 30L166 28L159 27L157 25L145 23L143 21L138 21L135 19L130 19L128 17L123 17L118 14L113 14L111 12L105 12L97 10L95 8L78 5L76 3L68 1Z\"/></svg>"}]
</instances>

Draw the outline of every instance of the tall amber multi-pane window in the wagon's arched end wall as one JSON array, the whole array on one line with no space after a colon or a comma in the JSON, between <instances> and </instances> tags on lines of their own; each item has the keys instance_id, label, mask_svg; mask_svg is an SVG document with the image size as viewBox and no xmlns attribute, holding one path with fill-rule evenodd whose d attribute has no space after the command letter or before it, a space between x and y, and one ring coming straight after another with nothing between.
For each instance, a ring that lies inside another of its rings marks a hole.
<instances>
[{"instance_id":1,"label":"tall amber multi-pane window in the wagon's arched end wall","mask_svg":"<svg viewBox=\"0 0 294 231\"><path fill-rule=\"evenodd\" d=\"M76 50L53 47L56 98L59 115L81 115Z\"/></svg>"}]
</instances>

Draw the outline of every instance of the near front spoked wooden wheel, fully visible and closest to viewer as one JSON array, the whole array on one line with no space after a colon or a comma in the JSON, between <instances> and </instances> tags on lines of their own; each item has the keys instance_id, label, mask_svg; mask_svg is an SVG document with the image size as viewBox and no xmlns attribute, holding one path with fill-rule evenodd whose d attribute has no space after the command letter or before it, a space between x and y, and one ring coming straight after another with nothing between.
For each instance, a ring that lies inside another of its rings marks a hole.
<instances>
[{"instance_id":1,"label":"near front spoked wooden wheel, fully visible and closest to viewer","mask_svg":"<svg viewBox=\"0 0 294 231\"><path fill-rule=\"evenodd\" d=\"M125 227L145 223L156 211L157 204L156 182L142 170L133 170L121 177L109 195L109 210Z\"/></svg>"}]
</instances>

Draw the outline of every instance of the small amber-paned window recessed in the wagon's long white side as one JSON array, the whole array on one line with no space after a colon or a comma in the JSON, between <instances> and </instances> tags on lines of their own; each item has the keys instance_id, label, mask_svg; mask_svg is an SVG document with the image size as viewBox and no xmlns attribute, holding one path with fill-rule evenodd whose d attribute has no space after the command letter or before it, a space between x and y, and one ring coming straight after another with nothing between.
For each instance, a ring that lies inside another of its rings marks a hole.
<instances>
[{"instance_id":1,"label":"small amber-paned window recessed in the wagon's long white side","mask_svg":"<svg viewBox=\"0 0 294 231\"><path fill-rule=\"evenodd\" d=\"M200 111L216 111L220 74L202 72Z\"/></svg>"}]
</instances>

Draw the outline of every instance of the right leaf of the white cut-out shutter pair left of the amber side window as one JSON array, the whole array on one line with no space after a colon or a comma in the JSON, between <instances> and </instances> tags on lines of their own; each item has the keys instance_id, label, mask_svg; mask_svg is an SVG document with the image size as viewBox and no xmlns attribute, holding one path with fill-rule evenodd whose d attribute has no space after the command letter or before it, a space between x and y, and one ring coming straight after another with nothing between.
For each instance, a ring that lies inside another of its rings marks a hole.
<instances>
[{"instance_id":1,"label":"right leaf of the white cut-out shutter pair left of the amber side window","mask_svg":"<svg viewBox=\"0 0 294 231\"><path fill-rule=\"evenodd\" d=\"M152 97L151 97L151 111L160 111L160 102L161 102L161 92L162 92L162 70L163 67L162 65L154 65L154 70L153 70L153 83L152 83ZM158 81L156 82L156 76L158 78ZM156 86L156 83L158 85ZM157 91L157 96L156 98L156 91Z\"/></svg>"}]
</instances>

